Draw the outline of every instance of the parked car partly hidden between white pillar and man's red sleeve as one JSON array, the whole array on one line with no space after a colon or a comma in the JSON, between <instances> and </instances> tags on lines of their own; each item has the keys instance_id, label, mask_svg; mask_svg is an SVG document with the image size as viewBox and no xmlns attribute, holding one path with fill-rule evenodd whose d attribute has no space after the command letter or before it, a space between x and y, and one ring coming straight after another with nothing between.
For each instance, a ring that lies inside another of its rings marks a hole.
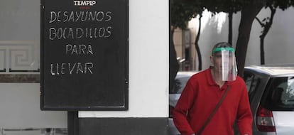
<instances>
[{"instance_id":1,"label":"parked car partly hidden between white pillar and man's red sleeve","mask_svg":"<svg viewBox=\"0 0 294 135\"><path fill-rule=\"evenodd\" d=\"M183 92L183 89L187 83L187 80L194 75L195 71L180 71L175 77L175 85L173 89L169 92L169 107L170 114L168 118L168 134L169 135L180 135L180 132L173 124L173 109L175 104L177 104L178 99L180 98L180 94Z\"/></svg>"}]
</instances>

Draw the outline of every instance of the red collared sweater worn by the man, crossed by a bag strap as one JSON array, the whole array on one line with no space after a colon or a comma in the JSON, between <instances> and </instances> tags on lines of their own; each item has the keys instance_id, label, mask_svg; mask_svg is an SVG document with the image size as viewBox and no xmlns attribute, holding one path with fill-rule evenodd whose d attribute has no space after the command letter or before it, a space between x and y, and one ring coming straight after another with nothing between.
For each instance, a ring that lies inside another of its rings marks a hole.
<instances>
[{"instance_id":1,"label":"red collared sweater worn by the man, crossed by a bag strap","mask_svg":"<svg viewBox=\"0 0 294 135\"><path fill-rule=\"evenodd\" d=\"M200 130L209 114L231 85L227 97L202 131L202 135L233 135L237 121L241 135L252 134L252 114L246 85L241 77L225 82L219 88L207 69L190 77L173 112L173 121L182 135L191 135Z\"/></svg>"}]
</instances>

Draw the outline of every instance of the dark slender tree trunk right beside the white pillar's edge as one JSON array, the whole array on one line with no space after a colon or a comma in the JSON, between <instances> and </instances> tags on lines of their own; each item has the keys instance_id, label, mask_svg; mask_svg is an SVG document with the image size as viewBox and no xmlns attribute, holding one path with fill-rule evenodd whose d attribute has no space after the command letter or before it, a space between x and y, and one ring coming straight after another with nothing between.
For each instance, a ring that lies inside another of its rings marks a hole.
<instances>
[{"instance_id":1,"label":"dark slender tree trunk right beside the white pillar's edge","mask_svg":"<svg viewBox=\"0 0 294 135\"><path fill-rule=\"evenodd\" d=\"M179 63L177 60L177 53L175 52L175 45L173 43L173 33L174 30L170 31L170 43L169 43L169 90L173 90L175 83L175 76L179 70Z\"/></svg>"}]
</instances>

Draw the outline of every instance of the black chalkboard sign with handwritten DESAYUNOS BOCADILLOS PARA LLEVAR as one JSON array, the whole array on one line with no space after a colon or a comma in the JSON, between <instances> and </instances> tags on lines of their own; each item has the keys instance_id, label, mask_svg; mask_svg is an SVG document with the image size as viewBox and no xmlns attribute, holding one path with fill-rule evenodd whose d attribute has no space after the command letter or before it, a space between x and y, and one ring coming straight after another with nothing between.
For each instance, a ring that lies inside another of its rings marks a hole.
<instances>
[{"instance_id":1,"label":"black chalkboard sign with handwritten DESAYUNOS BOCADILLOS PARA LLEVAR","mask_svg":"<svg viewBox=\"0 0 294 135\"><path fill-rule=\"evenodd\" d=\"M128 0L42 0L40 109L128 109Z\"/></svg>"}]
</instances>

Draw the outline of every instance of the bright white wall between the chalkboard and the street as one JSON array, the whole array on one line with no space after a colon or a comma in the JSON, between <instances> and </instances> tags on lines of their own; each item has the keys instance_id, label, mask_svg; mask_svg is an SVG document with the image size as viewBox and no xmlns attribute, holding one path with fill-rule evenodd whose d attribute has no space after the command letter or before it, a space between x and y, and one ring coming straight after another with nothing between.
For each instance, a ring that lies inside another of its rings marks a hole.
<instances>
[{"instance_id":1,"label":"bright white wall between the chalkboard and the street","mask_svg":"<svg viewBox=\"0 0 294 135\"><path fill-rule=\"evenodd\" d=\"M168 0L129 0L129 110L79 117L168 117Z\"/></svg>"}]
</instances>

